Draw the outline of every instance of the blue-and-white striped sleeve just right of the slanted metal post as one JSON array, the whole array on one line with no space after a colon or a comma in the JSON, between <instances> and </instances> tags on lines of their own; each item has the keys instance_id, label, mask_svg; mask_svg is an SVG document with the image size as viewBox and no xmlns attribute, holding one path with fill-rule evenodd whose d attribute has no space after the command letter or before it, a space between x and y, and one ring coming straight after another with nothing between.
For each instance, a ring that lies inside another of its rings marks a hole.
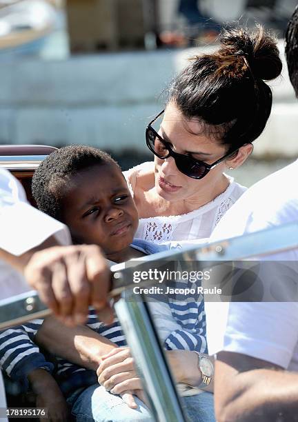
<instances>
[{"instance_id":1,"label":"blue-and-white striped sleeve just right of the slanted metal post","mask_svg":"<svg viewBox=\"0 0 298 422\"><path fill-rule=\"evenodd\" d=\"M172 331L164 341L166 350L195 350L208 353L203 301L199 304L172 302L170 308L180 328Z\"/></svg>"}]
</instances>

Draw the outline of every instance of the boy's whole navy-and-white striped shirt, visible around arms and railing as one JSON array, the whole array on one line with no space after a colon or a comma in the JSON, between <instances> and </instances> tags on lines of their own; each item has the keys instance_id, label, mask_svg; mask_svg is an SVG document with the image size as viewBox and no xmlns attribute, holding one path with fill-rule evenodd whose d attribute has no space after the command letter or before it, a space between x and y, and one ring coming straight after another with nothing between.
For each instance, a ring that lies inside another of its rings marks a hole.
<instances>
[{"instance_id":1,"label":"boy's whole navy-and-white striped shirt, visible around arms and railing","mask_svg":"<svg viewBox=\"0 0 298 422\"><path fill-rule=\"evenodd\" d=\"M153 254L169 249L181 248L178 243L157 245L148 241L135 239L132 246L146 254ZM142 258L143 259L143 258ZM176 286L185 288L189 281L178 281ZM201 294L191 297L165 297L164 301L150 303L150 310L157 325L161 328L161 341L166 350L197 350L207 353L206 316ZM24 325L19 325L0 332L0 366L11 379L20 381L23 390L27 390L27 375L34 369L44 368L52 372L54 365L34 344L34 336L43 323L35 319ZM106 337L118 346L126 345L126 339L117 319L111 325L106 325L97 319L93 308L89 308L86 323L91 330ZM97 383L97 374L65 359L56 357L55 375L65 394Z\"/></svg>"}]
</instances>

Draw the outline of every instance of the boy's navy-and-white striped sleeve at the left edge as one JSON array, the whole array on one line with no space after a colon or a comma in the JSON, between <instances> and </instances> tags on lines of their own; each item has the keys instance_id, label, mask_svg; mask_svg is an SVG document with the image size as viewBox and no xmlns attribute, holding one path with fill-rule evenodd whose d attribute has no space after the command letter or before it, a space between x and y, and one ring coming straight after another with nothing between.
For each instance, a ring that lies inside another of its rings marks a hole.
<instances>
[{"instance_id":1,"label":"boy's navy-and-white striped sleeve at the left edge","mask_svg":"<svg viewBox=\"0 0 298 422\"><path fill-rule=\"evenodd\" d=\"M28 389L27 376L32 370L43 368L52 372L54 368L33 342L42 323L42 319L35 319L0 332L0 367L12 380L20 381L24 391Z\"/></svg>"}]
</instances>

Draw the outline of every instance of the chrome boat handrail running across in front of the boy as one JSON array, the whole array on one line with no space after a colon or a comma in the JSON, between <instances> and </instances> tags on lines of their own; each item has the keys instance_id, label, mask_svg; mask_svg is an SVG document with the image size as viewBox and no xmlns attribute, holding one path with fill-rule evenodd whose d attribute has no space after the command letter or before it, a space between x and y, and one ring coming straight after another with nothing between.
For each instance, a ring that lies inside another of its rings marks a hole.
<instances>
[{"instance_id":1,"label":"chrome boat handrail running across in front of the boy","mask_svg":"<svg viewBox=\"0 0 298 422\"><path fill-rule=\"evenodd\" d=\"M135 283L132 282L133 272L141 271L150 261L239 261L294 248L298 248L298 221L220 242L206 243L183 250L175 250L175 252L159 252L148 255L146 260L112 265L110 297L118 296L121 292L135 287ZM145 285L146 281L141 281L139 285L141 284ZM29 307L27 299L33 299ZM43 305L35 291L2 299L0 300L0 330L16 325L20 321L26 322L37 318L37 313L39 314L41 311L50 314L50 310ZM17 320L12 318L12 314L16 315Z\"/></svg>"}]
</instances>

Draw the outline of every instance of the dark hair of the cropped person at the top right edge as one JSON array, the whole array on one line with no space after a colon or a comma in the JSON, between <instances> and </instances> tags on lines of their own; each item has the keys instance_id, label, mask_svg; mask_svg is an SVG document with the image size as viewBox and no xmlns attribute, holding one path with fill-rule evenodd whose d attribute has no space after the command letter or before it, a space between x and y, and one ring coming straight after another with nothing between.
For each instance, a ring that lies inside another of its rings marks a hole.
<instances>
[{"instance_id":1,"label":"dark hair of the cropped person at the top right edge","mask_svg":"<svg viewBox=\"0 0 298 422\"><path fill-rule=\"evenodd\" d=\"M298 97L298 6L296 6L286 30L286 59L290 81Z\"/></svg>"}]
</instances>

